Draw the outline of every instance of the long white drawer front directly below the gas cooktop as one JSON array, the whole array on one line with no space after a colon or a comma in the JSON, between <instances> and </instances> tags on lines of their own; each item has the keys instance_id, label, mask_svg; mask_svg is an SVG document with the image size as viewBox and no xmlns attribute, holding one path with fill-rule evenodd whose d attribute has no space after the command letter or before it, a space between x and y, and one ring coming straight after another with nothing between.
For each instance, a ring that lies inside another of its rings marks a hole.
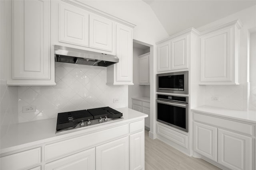
<instances>
[{"instance_id":1,"label":"long white drawer front directly below the gas cooktop","mask_svg":"<svg viewBox=\"0 0 256 170\"><path fill-rule=\"evenodd\" d=\"M58 156L64 156L81 149L94 147L104 141L122 137L129 134L129 126L121 125L111 129L90 133L88 135L75 137L65 141L53 143L45 146L45 160L50 160Z\"/></svg>"}]
</instances>

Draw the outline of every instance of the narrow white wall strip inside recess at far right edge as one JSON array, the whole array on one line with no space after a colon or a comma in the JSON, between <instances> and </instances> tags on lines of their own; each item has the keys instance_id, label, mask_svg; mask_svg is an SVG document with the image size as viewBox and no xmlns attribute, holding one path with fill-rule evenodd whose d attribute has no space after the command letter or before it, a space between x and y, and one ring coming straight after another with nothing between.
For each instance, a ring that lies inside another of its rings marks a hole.
<instances>
[{"instance_id":1,"label":"narrow white wall strip inside recess at far right edge","mask_svg":"<svg viewBox=\"0 0 256 170\"><path fill-rule=\"evenodd\" d=\"M250 35L250 99L249 109L256 110L256 32Z\"/></svg>"}]
</instances>

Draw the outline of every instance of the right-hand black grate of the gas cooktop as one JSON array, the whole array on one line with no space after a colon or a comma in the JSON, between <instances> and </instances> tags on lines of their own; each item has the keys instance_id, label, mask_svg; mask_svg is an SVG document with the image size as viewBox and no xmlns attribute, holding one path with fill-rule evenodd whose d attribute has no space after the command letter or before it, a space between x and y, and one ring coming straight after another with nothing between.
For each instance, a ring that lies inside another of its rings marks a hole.
<instances>
[{"instance_id":1,"label":"right-hand black grate of the gas cooktop","mask_svg":"<svg viewBox=\"0 0 256 170\"><path fill-rule=\"evenodd\" d=\"M100 108L95 108L95 109L88 109L87 111L89 111L93 116L94 119L99 119L100 117L109 117L109 118L118 118L118 117L122 117L122 113L112 109L111 107L100 107Z\"/></svg>"}]
</instances>

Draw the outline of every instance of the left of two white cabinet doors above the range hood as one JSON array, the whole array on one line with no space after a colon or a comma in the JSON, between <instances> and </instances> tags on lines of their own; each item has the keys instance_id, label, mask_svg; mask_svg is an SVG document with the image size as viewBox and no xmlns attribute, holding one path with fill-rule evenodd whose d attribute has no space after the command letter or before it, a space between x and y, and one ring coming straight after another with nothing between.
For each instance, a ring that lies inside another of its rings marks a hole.
<instances>
[{"instance_id":1,"label":"left of two white cabinet doors above the range hood","mask_svg":"<svg viewBox=\"0 0 256 170\"><path fill-rule=\"evenodd\" d=\"M59 41L89 47L89 14L86 10L59 3Z\"/></svg>"}]
</instances>

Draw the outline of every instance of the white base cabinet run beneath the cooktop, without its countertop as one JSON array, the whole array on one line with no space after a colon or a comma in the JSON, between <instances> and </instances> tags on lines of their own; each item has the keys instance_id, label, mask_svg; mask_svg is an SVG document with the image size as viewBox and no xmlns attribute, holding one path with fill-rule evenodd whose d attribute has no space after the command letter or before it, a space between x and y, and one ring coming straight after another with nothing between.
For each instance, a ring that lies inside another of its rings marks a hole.
<instances>
[{"instance_id":1,"label":"white base cabinet run beneath the cooktop, without its countertop","mask_svg":"<svg viewBox=\"0 0 256 170\"><path fill-rule=\"evenodd\" d=\"M41 143L40 147L38 144L37 147L30 146L31 149L24 148L23 151L1 152L0 170L144 168L144 118L87 130L78 133L80 135L76 131L65 134L66 137L61 139L47 139L48 142Z\"/></svg>"}]
</instances>

